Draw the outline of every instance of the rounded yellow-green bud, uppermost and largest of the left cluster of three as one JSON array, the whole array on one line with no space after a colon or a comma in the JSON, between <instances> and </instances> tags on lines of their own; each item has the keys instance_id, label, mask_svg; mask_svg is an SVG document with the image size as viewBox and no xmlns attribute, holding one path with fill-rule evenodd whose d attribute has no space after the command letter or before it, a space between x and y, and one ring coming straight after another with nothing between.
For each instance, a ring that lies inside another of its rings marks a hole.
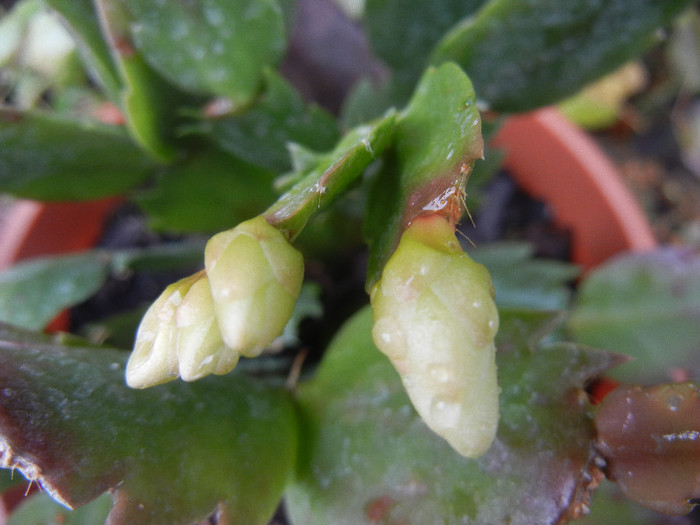
<instances>
[{"instance_id":1,"label":"rounded yellow-green bud, uppermost and largest of the left cluster of three","mask_svg":"<svg viewBox=\"0 0 700 525\"><path fill-rule=\"evenodd\" d=\"M204 261L224 343L255 357L282 334L304 278L304 260L264 217L207 243Z\"/></svg>"}]
</instances>

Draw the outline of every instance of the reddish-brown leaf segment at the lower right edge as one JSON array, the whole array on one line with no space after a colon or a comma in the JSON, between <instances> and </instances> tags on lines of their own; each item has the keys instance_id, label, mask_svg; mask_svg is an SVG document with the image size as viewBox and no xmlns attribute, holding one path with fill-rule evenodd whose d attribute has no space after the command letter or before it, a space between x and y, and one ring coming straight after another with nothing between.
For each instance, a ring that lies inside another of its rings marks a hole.
<instances>
[{"instance_id":1,"label":"reddish-brown leaf segment at the lower right edge","mask_svg":"<svg viewBox=\"0 0 700 525\"><path fill-rule=\"evenodd\" d=\"M627 497L667 514L700 498L700 386L621 386L595 415L607 475Z\"/></svg>"}]
</instances>

